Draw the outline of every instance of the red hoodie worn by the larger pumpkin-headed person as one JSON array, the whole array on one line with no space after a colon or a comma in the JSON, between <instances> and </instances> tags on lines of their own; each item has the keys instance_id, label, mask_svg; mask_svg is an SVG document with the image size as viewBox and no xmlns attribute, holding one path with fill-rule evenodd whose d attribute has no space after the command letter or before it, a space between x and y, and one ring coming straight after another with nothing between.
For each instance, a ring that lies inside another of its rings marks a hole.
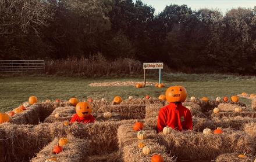
<instances>
[{"instance_id":1,"label":"red hoodie worn by the larger pumpkin-headed person","mask_svg":"<svg viewBox=\"0 0 256 162\"><path fill-rule=\"evenodd\" d=\"M189 109L181 103L170 102L169 105L160 109L157 121L158 132L168 126L173 130L193 130L192 117Z\"/></svg>"}]
</instances>

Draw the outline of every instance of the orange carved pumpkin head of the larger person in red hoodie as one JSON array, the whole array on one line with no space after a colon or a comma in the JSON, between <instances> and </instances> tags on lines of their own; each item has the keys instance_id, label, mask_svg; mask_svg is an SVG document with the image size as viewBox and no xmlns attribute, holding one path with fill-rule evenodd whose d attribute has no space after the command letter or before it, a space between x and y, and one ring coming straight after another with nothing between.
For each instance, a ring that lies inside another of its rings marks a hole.
<instances>
[{"instance_id":1,"label":"orange carved pumpkin head of the larger person in red hoodie","mask_svg":"<svg viewBox=\"0 0 256 162\"><path fill-rule=\"evenodd\" d=\"M187 98L187 91L183 86L169 87L165 92L168 102L184 102Z\"/></svg>"}]
</instances>

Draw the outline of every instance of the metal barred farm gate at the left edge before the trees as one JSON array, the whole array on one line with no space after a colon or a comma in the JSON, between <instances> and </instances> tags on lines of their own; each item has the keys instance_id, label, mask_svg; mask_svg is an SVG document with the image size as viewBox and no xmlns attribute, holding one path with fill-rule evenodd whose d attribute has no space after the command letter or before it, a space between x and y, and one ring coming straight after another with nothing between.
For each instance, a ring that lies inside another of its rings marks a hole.
<instances>
[{"instance_id":1,"label":"metal barred farm gate at the left edge before the trees","mask_svg":"<svg viewBox=\"0 0 256 162\"><path fill-rule=\"evenodd\" d=\"M44 60L0 60L1 73L33 73L44 70Z\"/></svg>"}]
</instances>

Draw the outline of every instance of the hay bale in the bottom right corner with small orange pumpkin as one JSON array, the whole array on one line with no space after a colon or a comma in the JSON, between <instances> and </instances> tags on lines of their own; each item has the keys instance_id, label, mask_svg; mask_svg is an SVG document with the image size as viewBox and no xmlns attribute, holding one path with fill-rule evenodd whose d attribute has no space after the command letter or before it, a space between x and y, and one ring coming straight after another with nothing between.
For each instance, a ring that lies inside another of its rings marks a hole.
<instances>
[{"instance_id":1,"label":"hay bale in the bottom right corner with small orange pumpkin","mask_svg":"<svg viewBox=\"0 0 256 162\"><path fill-rule=\"evenodd\" d=\"M225 153L216 158L216 162L254 162L256 156L246 154L246 158L239 158L240 153Z\"/></svg>"}]
</instances>

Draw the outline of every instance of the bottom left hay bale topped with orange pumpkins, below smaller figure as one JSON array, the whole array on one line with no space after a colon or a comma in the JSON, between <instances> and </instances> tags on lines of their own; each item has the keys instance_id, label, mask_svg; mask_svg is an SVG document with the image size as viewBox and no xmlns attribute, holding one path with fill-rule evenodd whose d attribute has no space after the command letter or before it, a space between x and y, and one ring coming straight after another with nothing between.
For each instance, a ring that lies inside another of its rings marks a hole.
<instances>
[{"instance_id":1,"label":"bottom left hay bale topped with orange pumpkins, below smaller figure","mask_svg":"<svg viewBox=\"0 0 256 162\"><path fill-rule=\"evenodd\" d=\"M67 136L69 142L67 145L63 146L63 151L59 154L52 153L52 149L58 144L59 139L55 138L54 141L45 146L37 156L34 157L32 162L44 162L49 158L56 158L58 161L84 161L87 159L88 154L91 154L90 141L84 139L74 138L72 136Z\"/></svg>"}]
</instances>

